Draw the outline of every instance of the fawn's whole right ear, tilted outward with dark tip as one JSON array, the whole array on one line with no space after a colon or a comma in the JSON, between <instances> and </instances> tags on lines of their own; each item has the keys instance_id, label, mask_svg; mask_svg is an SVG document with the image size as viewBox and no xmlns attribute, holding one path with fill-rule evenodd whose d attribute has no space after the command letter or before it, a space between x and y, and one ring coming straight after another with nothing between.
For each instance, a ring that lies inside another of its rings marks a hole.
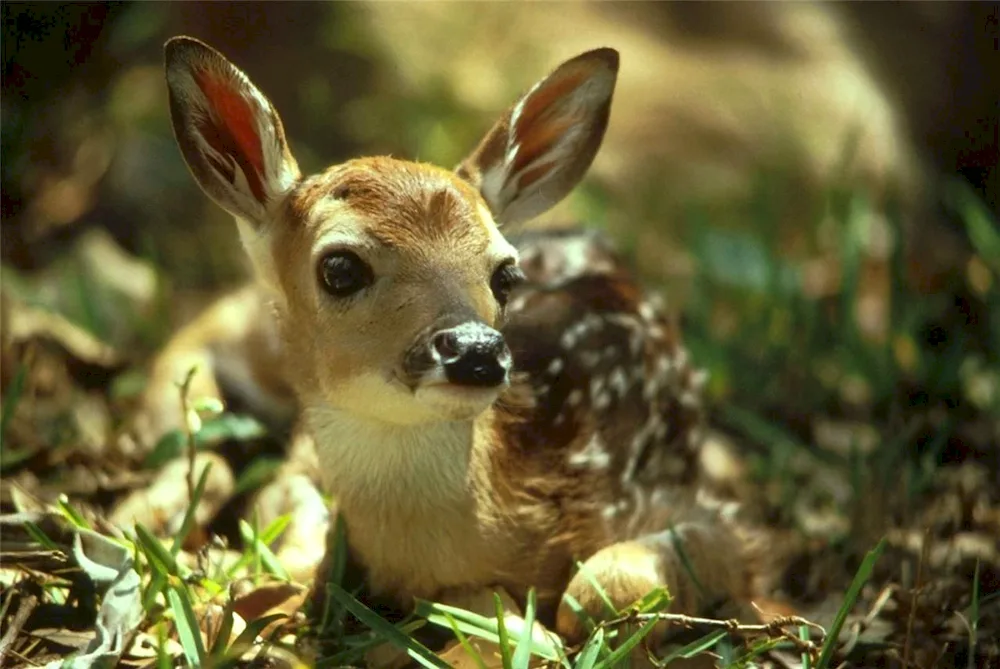
<instances>
[{"instance_id":1,"label":"fawn's whole right ear, tilted outward with dark tip","mask_svg":"<svg viewBox=\"0 0 1000 669\"><path fill-rule=\"evenodd\" d=\"M537 216L576 186L604 138L617 78L614 49L566 61L518 100L458 166L498 223Z\"/></svg>"}]
</instances>

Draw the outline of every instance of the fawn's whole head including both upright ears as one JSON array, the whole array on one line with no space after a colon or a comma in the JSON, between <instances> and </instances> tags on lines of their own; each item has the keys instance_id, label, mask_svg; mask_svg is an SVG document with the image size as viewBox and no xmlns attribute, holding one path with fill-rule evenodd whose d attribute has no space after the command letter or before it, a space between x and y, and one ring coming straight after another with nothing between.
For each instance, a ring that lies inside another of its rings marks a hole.
<instances>
[{"instance_id":1,"label":"fawn's whole head including both upright ears","mask_svg":"<svg viewBox=\"0 0 1000 669\"><path fill-rule=\"evenodd\" d=\"M520 279L499 225L561 200L604 136L611 49L561 65L455 170L364 158L303 176L277 111L215 50L169 40L174 133L275 296L299 391L398 423L470 418L509 382Z\"/></svg>"}]
</instances>

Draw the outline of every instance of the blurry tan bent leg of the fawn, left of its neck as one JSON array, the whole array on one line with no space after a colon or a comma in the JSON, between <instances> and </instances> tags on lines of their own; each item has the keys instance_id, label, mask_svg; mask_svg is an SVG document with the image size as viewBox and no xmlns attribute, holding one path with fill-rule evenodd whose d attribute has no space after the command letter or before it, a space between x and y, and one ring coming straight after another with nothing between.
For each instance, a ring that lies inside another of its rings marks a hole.
<instances>
[{"instance_id":1,"label":"blurry tan bent leg of the fawn, left of its neck","mask_svg":"<svg viewBox=\"0 0 1000 669\"><path fill-rule=\"evenodd\" d=\"M285 415L294 406L268 305L256 287L247 286L219 298L157 355L130 425L138 448L152 448L183 425L177 386L195 365L192 399L221 400L224 388L262 412Z\"/></svg>"}]
</instances>

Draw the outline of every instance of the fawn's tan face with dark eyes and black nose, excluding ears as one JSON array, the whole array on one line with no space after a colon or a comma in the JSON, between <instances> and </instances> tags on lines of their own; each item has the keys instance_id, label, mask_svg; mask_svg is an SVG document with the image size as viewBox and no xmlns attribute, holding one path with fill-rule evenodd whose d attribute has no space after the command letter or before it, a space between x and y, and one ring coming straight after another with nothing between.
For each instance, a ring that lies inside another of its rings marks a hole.
<instances>
[{"instance_id":1,"label":"fawn's tan face with dark eyes and black nose, excluding ears","mask_svg":"<svg viewBox=\"0 0 1000 669\"><path fill-rule=\"evenodd\" d=\"M271 244L289 348L330 405L462 419L508 383L517 252L453 173L385 158L303 180ZM301 358L300 358L301 360Z\"/></svg>"}]
</instances>

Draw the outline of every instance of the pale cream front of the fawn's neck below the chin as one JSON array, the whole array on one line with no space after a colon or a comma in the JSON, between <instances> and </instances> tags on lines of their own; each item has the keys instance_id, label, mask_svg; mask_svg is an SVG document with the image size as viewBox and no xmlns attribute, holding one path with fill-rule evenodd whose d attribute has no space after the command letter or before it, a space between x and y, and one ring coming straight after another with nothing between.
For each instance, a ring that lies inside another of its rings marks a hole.
<instances>
[{"instance_id":1,"label":"pale cream front of the fawn's neck below the chin","mask_svg":"<svg viewBox=\"0 0 1000 669\"><path fill-rule=\"evenodd\" d=\"M511 542L492 481L497 445L482 436L489 412L417 426L329 408L305 416L374 592L434 597L494 578Z\"/></svg>"}]
</instances>

